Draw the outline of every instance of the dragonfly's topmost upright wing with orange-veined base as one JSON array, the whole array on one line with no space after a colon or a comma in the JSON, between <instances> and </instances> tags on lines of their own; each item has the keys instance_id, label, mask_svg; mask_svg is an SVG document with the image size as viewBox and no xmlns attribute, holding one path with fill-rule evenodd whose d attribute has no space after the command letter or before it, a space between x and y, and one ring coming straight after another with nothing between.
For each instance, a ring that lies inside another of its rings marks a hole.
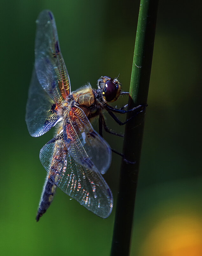
<instances>
[{"instance_id":1,"label":"dragonfly's topmost upright wing with orange-veined base","mask_svg":"<svg viewBox=\"0 0 202 256\"><path fill-rule=\"evenodd\" d=\"M70 94L70 81L59 49L55 20L48 10L42 11L37 19L35 68L43 89L60 105Z\"/></svg>"}]
</instances>

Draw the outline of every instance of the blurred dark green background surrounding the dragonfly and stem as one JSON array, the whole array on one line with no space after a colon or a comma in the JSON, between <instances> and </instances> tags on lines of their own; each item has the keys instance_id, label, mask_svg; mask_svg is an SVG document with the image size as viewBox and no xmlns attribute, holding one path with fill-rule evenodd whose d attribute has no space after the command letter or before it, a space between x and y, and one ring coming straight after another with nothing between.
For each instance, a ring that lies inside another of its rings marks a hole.
<instances>
[{"instance_id":1,"label":"blurred dark green background surrounding the dragonfly and stem","mask_svg":"<svg viewBox=\"0 0 202 256\"><path fill-rule=\"evenodd\" d=\"M200 3L159 4L131 255L202 255ZM73 90L119 73L122 89L129 90L139 1L1 1L0 254L107 256L121 162L115 154L104 175L115 198L108 219L58 189L35 221L46 176L39 151L53 135L32 138L24 119L35 20L43 9L55 16ZM107 122L123 132L110 117ZM121 138L104 137L122 151Z\"/></svg>"}]
</instances>

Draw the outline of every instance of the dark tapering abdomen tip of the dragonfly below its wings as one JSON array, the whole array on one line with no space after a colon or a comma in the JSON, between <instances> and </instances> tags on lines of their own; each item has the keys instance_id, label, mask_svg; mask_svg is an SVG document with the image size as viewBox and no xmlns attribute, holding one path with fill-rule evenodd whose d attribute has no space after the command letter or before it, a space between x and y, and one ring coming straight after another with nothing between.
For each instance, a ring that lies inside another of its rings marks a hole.
<instances>
[{"instance_id":1,"label":"dark tapering abdomen tip of the dragonfly below its wings","mask_svg":"<svg viewBox=\"0 0 202 256\"><path fill-rule=\"evenodd\" d=\"M47 175L44 183L44 188L41 194L41 200L38 206L36 221L39 221L40 217L46 212L48 207L51 205L53 196L55 194L55 190L55 183L50 178L50 175Z\"/></svg>"}]
</instances>

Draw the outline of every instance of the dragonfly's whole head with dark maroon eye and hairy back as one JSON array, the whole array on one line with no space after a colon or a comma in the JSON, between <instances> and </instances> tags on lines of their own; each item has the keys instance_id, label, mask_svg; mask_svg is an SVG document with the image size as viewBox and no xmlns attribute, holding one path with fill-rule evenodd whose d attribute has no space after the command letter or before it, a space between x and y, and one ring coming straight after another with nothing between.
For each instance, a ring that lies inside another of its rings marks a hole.
<instances>
[{"instance_id":1,"label":"dragonfly's whole head with dark maroon eye and hairy back","mask_svg":"<svg viewBox=\"0 0 202 256\"><path fill-rule=\"evenodd\" d=\"M121 83L117 78L101 76L97 81L97 86L102 90L102 96L107 102L117 100L121 92Z\"/></svg>"}]
</instances>

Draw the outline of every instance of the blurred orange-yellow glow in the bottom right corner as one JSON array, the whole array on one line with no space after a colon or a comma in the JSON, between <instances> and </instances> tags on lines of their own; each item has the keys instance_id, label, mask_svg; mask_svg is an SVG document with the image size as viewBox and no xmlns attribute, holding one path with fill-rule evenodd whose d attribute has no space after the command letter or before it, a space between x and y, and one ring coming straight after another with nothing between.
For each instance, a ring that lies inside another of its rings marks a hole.
<instances>
[{"instance_id":1,"label":"blurred orange-yellow glow in the bottom right corner","mask_svg":"<svg viewBox=\"0 0 202 256\"><path fill-rule=\"evenodd\" d=\"M145 239L143 256L202 256L202 221L175 215L159 222Z\"/></svg>"}]
</instances>

